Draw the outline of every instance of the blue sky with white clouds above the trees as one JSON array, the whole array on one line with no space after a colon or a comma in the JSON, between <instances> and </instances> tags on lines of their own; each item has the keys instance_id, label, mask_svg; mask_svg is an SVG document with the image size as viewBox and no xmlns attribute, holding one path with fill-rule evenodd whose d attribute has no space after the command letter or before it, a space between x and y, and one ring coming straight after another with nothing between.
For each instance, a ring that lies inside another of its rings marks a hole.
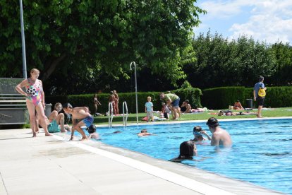
<instances>
[{"instance_id":1,"label":"blue sky with white clouds above the trees","mask_svg":"<svg viewBox=\"0 0 292 195\"><path fill-rule=\"evenodd\" d=\"M292 45L291 0L197 0L195 6L207 11L199 16L202 23L194 28L195 36L210 30L230 40L247 35L268 44Z\"/></svg>"}]
</instances>

